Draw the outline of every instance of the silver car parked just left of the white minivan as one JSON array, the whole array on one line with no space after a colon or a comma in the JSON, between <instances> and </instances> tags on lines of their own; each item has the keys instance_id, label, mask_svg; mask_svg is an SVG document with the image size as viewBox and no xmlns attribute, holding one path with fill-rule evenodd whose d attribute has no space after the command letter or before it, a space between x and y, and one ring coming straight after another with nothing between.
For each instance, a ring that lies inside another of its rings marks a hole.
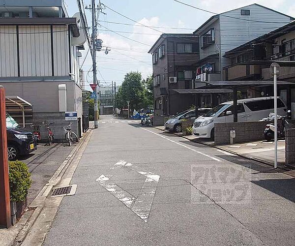
<instances>
[{"instance_id":1,"label":"silver car parked just left of the white minivan","mask_svg":"<svg viewBox=\"0 0 295 246\"><path fill-rule=\"evenodd\" d=\"M210 108L200 108L198 109L198 115L202 116L206 114ZM176 131L176 132L181 132L182 131L182 125L181 125L181 120L182 119L190 119L190 120L195 120L196 119L196 111L193 110L185 110L176 116L174 116L172 119L169 119L165 123L165 130L169 131Z\"/></svg>"}]
</instances>

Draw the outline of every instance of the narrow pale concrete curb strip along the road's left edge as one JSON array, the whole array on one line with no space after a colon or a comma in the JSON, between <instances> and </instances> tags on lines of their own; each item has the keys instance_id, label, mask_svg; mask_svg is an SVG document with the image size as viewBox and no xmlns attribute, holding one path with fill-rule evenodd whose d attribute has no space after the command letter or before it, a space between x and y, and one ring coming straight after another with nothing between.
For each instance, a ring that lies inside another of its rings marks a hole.
<instances>
[{"instance_id":1,"label":"narrow pale concrete curb strip along the road's left edge","mask_svg":"<svg viewBox=\"0 0 295 246\"><path fill-rule=\"evenodd\" d=\"M28 216L28 218L26 218L25 221L23 221L23 227L14 238L13 242L11 243L11 246L19 246L23 243L30 228L32 227L32 225L34 224L34 222L40 215L41 211L43 210L45 205L45 199L50 195L52 188L59 183L64 172L67 170L67 167L73 160L72 157L75 156L75 153L77 153L80 150L80 148L83 146L90 132L91 132L91 129L89 128L89 131L83 136L83 139L77 144L77 146L75 146L75 148L71 151L71 153L64 159L64 161L60 164L55 174L50 178L48 183L43 186L39 194L28 206L28 209L23 216L25 216L26 213L29 213L30 209L34 209L34 211L31 213L30 216Z\"/></svg>"}]
</instances>

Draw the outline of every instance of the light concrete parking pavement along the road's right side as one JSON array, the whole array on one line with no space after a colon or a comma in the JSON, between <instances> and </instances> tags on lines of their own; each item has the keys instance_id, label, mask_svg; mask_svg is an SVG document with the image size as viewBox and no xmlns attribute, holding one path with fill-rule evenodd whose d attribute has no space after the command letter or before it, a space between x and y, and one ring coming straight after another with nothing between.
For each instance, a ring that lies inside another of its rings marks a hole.
<instances>
[{"instance_id":1,"label":"light concrete parking pavement along the road's right side","mask_svg":"<svg viewBox=\"0 0 295 246\"><path fill-rule=\"evenodd\" d=\"M164 126L156 126L155 128L166 131ZM214 145L214 141L210 139L201 139L194 136L182 136L182 133L172 133L179 137L184 137L190 141L206 144L232 154L237 154L245 158L254 159L268 165L274 163L274 143L266 141L255 141L234 145ZM285 140L278 141L278 164L285 166Z\"/></svg>"}]
</instances>

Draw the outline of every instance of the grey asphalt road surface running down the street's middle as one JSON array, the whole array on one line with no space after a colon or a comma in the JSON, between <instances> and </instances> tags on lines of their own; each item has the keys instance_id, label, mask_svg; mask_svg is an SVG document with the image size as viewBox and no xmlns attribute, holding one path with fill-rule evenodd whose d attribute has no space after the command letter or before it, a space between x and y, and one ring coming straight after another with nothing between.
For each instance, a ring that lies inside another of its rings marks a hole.
<instances>
[{"instance_id":1,"label":"grey asphalt road surface running down the street's middle","mask_svg":"<svg viewBox=\"0 0 295 246\"><path fill-rule=\"evenodd\" d=\"M294 245L295 179L104 116L45 246Z\"/></svg>"}]
</instances>

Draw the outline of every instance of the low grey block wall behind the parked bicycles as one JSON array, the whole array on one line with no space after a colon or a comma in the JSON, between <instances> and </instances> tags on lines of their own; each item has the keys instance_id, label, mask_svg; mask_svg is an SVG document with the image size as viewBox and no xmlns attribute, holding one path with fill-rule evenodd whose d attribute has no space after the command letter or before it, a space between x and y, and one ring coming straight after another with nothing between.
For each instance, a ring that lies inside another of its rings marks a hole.
<instances>
[{"instance_id":1,"label":"low grey block wall behind the parked bicycles","mask_svg":"<svg viewBox=\"0 0 295 246\"><path fill-rule=\"evenodd\" d=\"M52 132L55 136L56 142L65 142L63 126L67 126L72 122L72 130L78 135L77 121L65 121L64 112L50 112L50 113L33 113L32 122L34 125L45 123L53 123L51 125ZM45 128L40 128L41 142L46 142L48 131Z\"/></svg>"}]
</instances>

